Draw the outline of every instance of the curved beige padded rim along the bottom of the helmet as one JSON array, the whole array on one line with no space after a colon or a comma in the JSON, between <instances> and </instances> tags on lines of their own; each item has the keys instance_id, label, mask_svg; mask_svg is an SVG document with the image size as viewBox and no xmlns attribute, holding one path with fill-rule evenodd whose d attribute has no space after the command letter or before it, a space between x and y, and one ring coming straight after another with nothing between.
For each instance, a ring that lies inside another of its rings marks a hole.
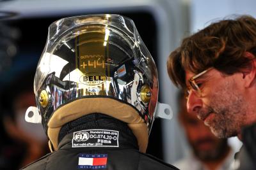
<instances>
[{"instance_id":1,"label":"curved beige padded rim along the bottom of the helmet","mask_svg":"<svg viewBox=\"0 0 256 170\"><path fill-rule=\"evenodd\" d=\"M126 122L137 138L140 152L146 152L148 128L138 111L129 104L105 97L77 99L54 111L47 131L54 150L58 150L58 134L62 125L90 113L102 113Z\"/></svg>"}]
</instances>

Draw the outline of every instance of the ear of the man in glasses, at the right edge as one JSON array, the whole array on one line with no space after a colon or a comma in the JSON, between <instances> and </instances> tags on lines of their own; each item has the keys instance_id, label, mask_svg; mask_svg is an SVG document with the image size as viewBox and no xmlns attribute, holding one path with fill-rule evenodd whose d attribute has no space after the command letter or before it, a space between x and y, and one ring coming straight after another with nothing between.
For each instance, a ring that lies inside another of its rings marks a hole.
<instances>
[{"instance_id":1,"label":"ear of the man in glasses, at the right edge","mask_svg":"<svg viewBox=\"0 0 256 170\"><path fill-rule=\"evenodd\" d=\"M250 64L247 69L243 69L243 79L244 79L244 87L250 87L256 76L256 59L255 56L250 52L244 53L245 57L251 59Z\"/></svg>"}]
</instances>

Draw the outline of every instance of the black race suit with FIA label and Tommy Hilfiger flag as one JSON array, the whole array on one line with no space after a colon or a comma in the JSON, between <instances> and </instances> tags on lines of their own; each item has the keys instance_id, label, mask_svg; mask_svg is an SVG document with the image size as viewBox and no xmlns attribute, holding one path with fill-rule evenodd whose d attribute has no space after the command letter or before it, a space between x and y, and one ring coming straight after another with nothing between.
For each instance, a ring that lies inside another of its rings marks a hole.
<instances>
[{"instance_id":1,"label":"black race suit with FIA label and Tommy Hilfiger flag","mask_svg":"<svg viewBox=\"0 0 256 170\"><path fill-rule=\"evenodd\" d=\"M134 134L124 122L99 113L64 125L59 141L58 151L45 155L24 169L177 169L156 157L140 153Z\"/></svg>"}]
</instances>

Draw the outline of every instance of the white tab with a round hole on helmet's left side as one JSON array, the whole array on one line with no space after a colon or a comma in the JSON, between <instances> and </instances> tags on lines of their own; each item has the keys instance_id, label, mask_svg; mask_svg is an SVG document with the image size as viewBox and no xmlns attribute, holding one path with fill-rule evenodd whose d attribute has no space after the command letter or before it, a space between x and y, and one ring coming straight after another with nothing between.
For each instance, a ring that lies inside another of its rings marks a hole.
<instances>
[{"instance_id":1,"label":"white tab with a round hole on helmet's left side","mask_svg":"<svg viewBox=\"0 0 256 170\"><path fill-rule=\"evenodd\" d=\"M38 108L34 106L29 106L25 114L25 120L29 123L41 124L42 117L39 114Z\"/></svg>"}]
</instances>

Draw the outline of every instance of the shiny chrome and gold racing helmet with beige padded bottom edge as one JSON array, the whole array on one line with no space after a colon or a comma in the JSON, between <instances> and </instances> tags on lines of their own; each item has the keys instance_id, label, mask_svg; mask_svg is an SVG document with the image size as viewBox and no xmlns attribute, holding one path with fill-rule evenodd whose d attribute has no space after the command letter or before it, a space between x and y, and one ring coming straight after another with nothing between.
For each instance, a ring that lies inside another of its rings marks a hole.
<instances>
[{"instance_id":1,"label":"shiny chrome and gold racing helmet with beige padded bottom edge","mask_svg":"<svg viewBox=\"0 0 256 170\"><path fill-rule=\"evenodd\" d=\"M34 92L37 108L26 111L26 120L42 123L54 150L64 124L103 113L126 122L145 152L157 117L158 76L130 18L86 15L52 23ZM170 118L170 106L162 106Z\"/></svg>"}]
</instances>

